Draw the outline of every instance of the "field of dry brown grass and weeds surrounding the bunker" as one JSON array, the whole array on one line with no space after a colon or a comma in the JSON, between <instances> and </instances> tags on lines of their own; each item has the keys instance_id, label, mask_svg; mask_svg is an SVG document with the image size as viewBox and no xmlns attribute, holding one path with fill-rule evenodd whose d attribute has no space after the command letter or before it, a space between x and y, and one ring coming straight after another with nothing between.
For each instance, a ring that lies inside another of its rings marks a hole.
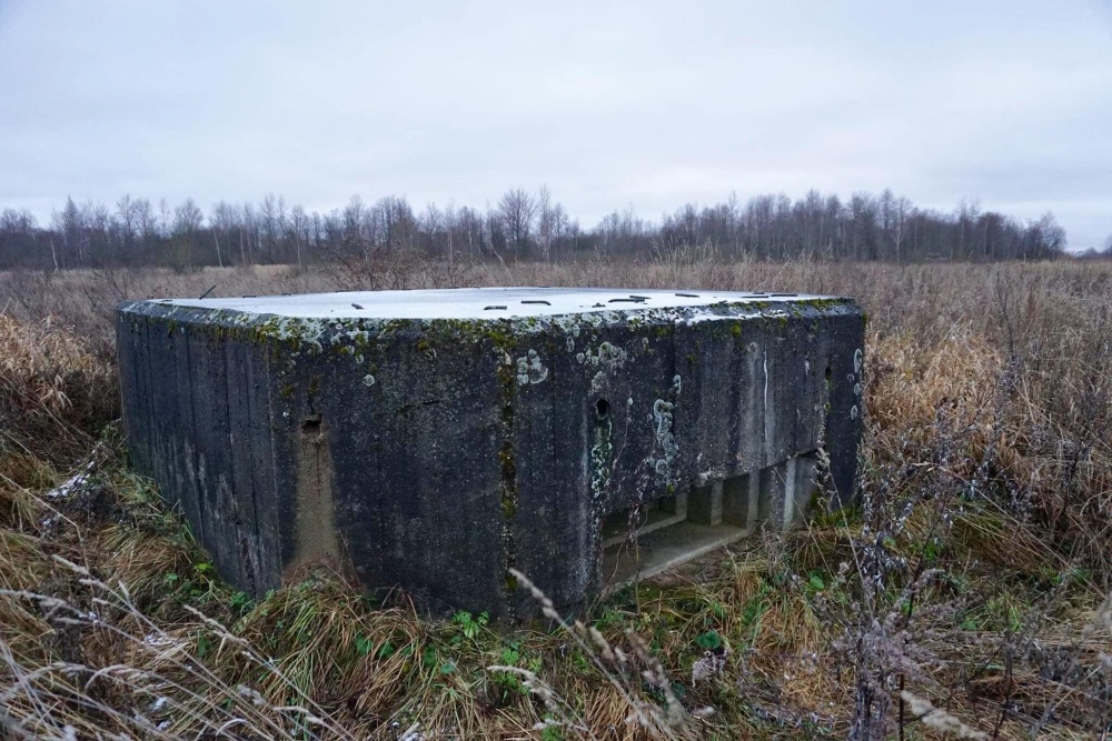
<instances>
[{"instance_id":1,"label":"field of dry brown grass and weeds surrounding the bunker","mask_svg":"<svg viewBox=\"0 0 1112 741\"><path fill-rule=\"evenodd\" d=\"M126 467L116 302L466 284L856 297L861 504L547 628L220 582ZM0 274L0 738L1102 737L1110 430L1110 262Z\"/></svg>"}]
</instances>

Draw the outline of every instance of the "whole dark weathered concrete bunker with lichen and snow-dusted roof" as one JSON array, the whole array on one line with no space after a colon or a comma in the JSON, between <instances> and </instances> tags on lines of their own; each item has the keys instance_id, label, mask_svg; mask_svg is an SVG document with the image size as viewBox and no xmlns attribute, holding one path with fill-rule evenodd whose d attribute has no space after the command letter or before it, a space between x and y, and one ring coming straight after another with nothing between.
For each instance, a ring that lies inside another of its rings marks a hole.
<instances>
[{"instance_id":1,"label":"whole dark weathered concrete bunker with lichen and snow-dusted roof","mask_svg":"<svg viewBox=\"0 0 1112 741\"><path fill-rule=\"evenodd\" d=\"M226 578L258 594L329 560L507 617L535 612L512 567L574 608L791 524L821 445L851 498L863 331L846 299L563 289L138 301L118 324L135 462Z\"/></svg>"}]
</instances>

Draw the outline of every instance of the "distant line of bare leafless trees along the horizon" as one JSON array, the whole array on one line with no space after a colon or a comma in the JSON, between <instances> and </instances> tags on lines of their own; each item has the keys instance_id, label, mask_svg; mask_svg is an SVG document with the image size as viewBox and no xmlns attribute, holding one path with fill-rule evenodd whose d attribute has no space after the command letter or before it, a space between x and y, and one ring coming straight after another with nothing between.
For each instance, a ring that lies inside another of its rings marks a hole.
<instances>
[{"instance_id":1,"label":"distant line of bare leafless trees along the horizon","mask_svg":"<svg viewBox=\"0 0 1112 741\"><path fill-rule=\"evenodd\" d=\"M206 213L192 199L125 196L115 206L72 198L40 224L28 210L0 212L0 270L309 264L407 250L448 261L560 262L584 256L667 254L712 247L722 257L790 260L1041 260L1063 254L1065 231L1046 213L1021 221L963 201L953 212L914 207L885 190L848 200L812 190L798 200L759 196L742 203L687 204L659 221L615 211L580 226L546 187L508 190L486 210L405 197L358 196L318 213L267 194L259 203L220 201Z\"/></svg>"}]
</instances>

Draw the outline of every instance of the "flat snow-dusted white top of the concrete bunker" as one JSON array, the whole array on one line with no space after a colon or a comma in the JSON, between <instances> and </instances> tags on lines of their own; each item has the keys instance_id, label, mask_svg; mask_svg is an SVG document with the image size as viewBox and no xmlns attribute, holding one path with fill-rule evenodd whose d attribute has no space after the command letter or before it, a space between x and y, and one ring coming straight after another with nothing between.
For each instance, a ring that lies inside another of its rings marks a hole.
<instances>
[{"instance_id":1,"label":"flat snow-dusted white top of the concrete bunker","mask_svg":"<svg viewBox=\"0 0 1112 741\"><path fill-rule=\"evenodd\" d=\"M833 297L697 290L455 288L417 291L341 291L239 299L162 299L155 303L304 319L503 319L593 311L709 307L723 302L791 303L830 298Z\"/></svg>"}]
</instances>

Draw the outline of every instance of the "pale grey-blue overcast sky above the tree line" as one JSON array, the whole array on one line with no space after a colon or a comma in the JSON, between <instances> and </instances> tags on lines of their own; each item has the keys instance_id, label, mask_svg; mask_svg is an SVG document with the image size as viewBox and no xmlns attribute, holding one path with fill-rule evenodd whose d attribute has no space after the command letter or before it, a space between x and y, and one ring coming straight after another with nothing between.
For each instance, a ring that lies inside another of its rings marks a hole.
<instances>
[{"instance_id":1,"label":"pale grey-blue overcast sky above the tree line","mask_svg":"<svg viewBox=\"0 0 1112 741\"><path fill-rule=\"evenodd\" d=\"M891 187L1112 234L1112 0L0 0L0 207Z\"/></svg>"}]
</instances>

